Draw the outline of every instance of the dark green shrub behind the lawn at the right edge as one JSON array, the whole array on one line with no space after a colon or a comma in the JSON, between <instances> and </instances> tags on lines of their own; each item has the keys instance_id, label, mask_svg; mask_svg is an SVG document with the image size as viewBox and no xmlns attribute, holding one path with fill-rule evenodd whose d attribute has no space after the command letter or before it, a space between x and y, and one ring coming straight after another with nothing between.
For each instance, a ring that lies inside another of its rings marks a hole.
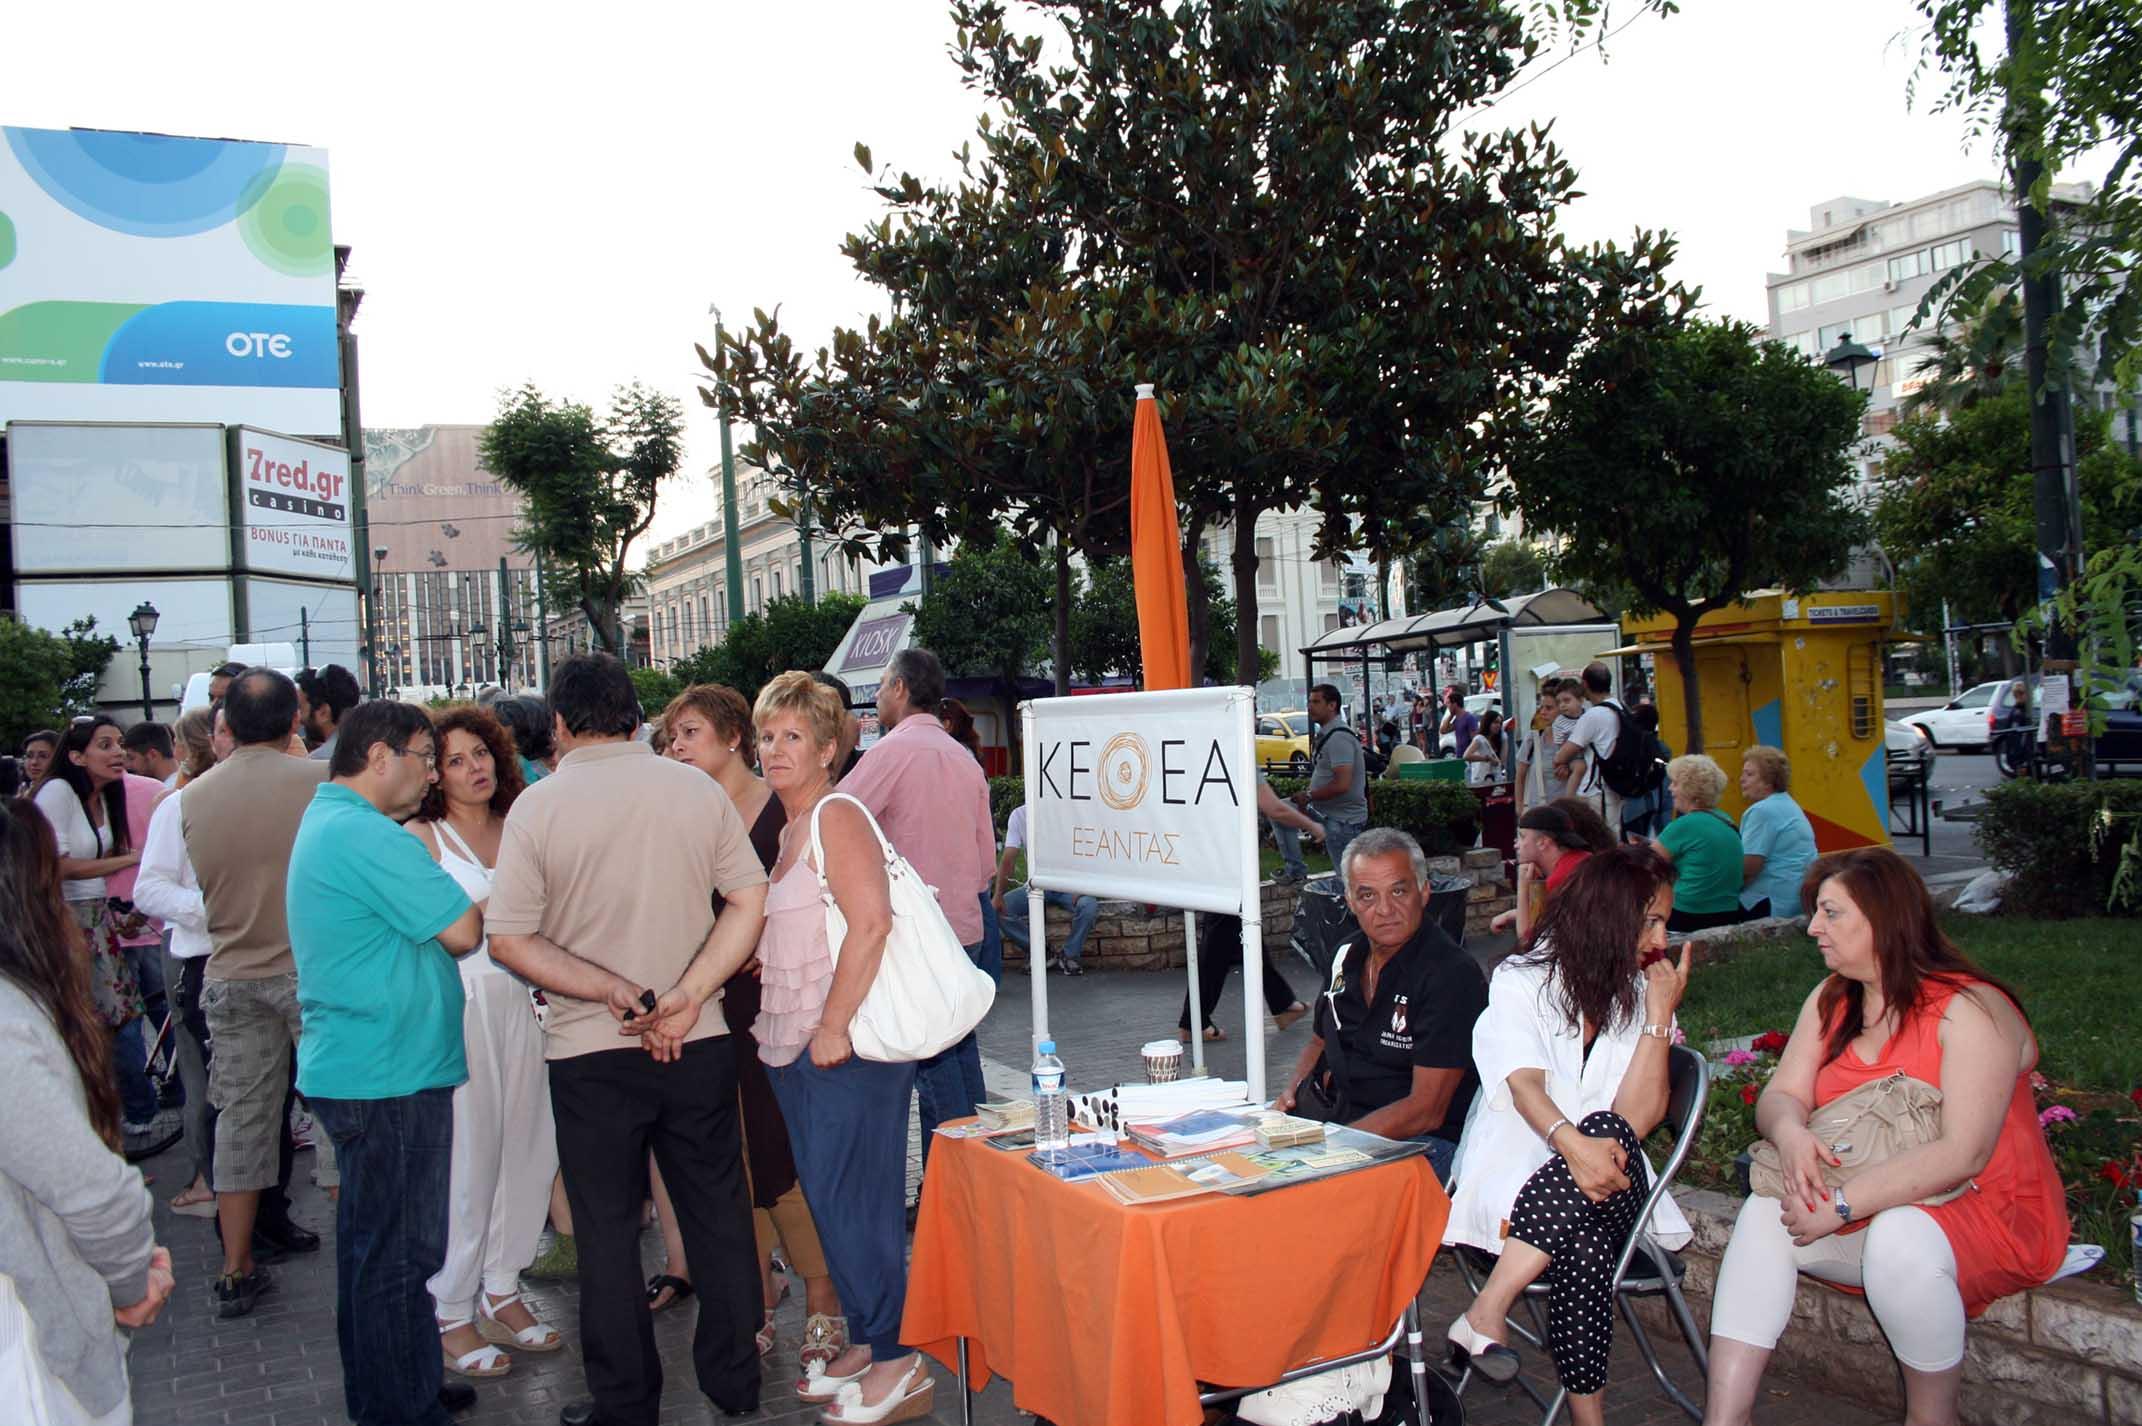
<instances>
[{"instance_id":1,"label":"dark green shrub behind the lawn at the right edge","mask_svg":"<svg viewBox=\"0 0 2142 1426\"><path fill-rule=\"evenodd\" d=\"M2133 782L2007 782L1986 792L1977 824L1986 861L2009 876L2003 910L2024 916L2142 910L2131 884L2114 897L2138 835L2142 784Z\"/></svg>"}]
</instances>

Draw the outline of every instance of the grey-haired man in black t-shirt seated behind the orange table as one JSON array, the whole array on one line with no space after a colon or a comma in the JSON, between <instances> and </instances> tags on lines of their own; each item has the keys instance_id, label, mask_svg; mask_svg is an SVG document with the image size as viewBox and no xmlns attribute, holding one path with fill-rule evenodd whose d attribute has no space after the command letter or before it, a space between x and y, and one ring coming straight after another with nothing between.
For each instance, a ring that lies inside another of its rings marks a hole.
<instances>
[{"instance_id":1,"label":"grey-haired man in black t-shirt seated behind the orange table","mask_svg":"<svg viewBox=\"0 0 2142 1426\"><path fill-rule=\"evenodd\" d=\"M1429 863L1409 835L1362 833L1341 874L1362 934L1332 957L1315 1034L1274 1103L1386 1139L1420 1139L1448 1182L1480 1092L1472 1030L1487 1008L1487 979L1427 919Z\"/></svg>"}]
</instances>

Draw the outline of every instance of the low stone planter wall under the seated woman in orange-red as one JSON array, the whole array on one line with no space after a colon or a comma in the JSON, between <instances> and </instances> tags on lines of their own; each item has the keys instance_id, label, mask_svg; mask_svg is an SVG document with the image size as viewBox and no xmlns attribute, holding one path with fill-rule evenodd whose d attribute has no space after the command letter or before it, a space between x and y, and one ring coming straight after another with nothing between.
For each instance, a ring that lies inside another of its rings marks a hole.
<instances>
[{"instance_id":1,"label":"low stone planter wall under the seated woman in orange-red","mask_svg":"<svg viewBox=\"0 0 2142 1426\"><path fill-rule=\"evenodd\" d=\"M1694 1229L1681 1250L1684 1291L1707 1328L1718 1257L1733 1235L1741 1199L1675 1193ZM1639 1304L1645 1328L1679 1340L1664 1302ZM1864 1298L1799 1280L1793 1325L1778 1342L1778 1366L1823 1390L1902 1413L1904 1387ZM1694 1394L1692 1383L1684 1383ZM1964 1338L1960 1415L1968 1426L2103 1422L2142 1426L2142 1306L2133 1293L2091 1274L2003 1298Z\"/></svg>"}]
</instances>

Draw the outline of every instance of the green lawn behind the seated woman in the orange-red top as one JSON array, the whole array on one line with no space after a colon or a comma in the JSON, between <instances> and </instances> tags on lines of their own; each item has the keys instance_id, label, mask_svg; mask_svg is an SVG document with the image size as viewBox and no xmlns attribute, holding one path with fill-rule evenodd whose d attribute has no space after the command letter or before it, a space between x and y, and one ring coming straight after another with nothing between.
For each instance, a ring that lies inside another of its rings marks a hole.
<instances>
[{"instance_id":1,"label":"green lawn behind the seated woman in the orange-red top","mask_svg":"<svg viewBox=\"0 0 2142 1426\"><path fill-rule=\"evenodd\" d=\"M2022 996L2048 1079L2112 1094L2142 1083L2133 921L1951 914L1941 925L1964 955ZM1823 957L1808 938L1756 946L1724 966L1699 966L1679 1008L1681 1026L1699 1045L1791 1030L1821 979Z\"/></svg>"}]
</instances>

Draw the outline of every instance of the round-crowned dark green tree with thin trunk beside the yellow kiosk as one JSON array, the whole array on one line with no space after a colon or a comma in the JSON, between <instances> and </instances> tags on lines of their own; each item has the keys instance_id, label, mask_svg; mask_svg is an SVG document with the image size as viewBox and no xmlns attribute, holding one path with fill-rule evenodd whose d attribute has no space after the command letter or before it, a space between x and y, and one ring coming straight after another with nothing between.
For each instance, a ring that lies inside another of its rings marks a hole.
<instances>
[{"instance_id":1,"label":"round-crowned dark green tree with thin trunk beside the yellow kiosk","mask_svg":"<svg viewBox=\"0 0 2142 1426\"><path fill-rule=\"evenodd\" d=\"M1692 319L1592 347L1510 465L1555 574L1673 615L1688 752L1703 749L1694 627L1752 589L1810 589L1864 540L1851 447L1866 396L1748 323Z\"/></svg>"}]
</instances>

